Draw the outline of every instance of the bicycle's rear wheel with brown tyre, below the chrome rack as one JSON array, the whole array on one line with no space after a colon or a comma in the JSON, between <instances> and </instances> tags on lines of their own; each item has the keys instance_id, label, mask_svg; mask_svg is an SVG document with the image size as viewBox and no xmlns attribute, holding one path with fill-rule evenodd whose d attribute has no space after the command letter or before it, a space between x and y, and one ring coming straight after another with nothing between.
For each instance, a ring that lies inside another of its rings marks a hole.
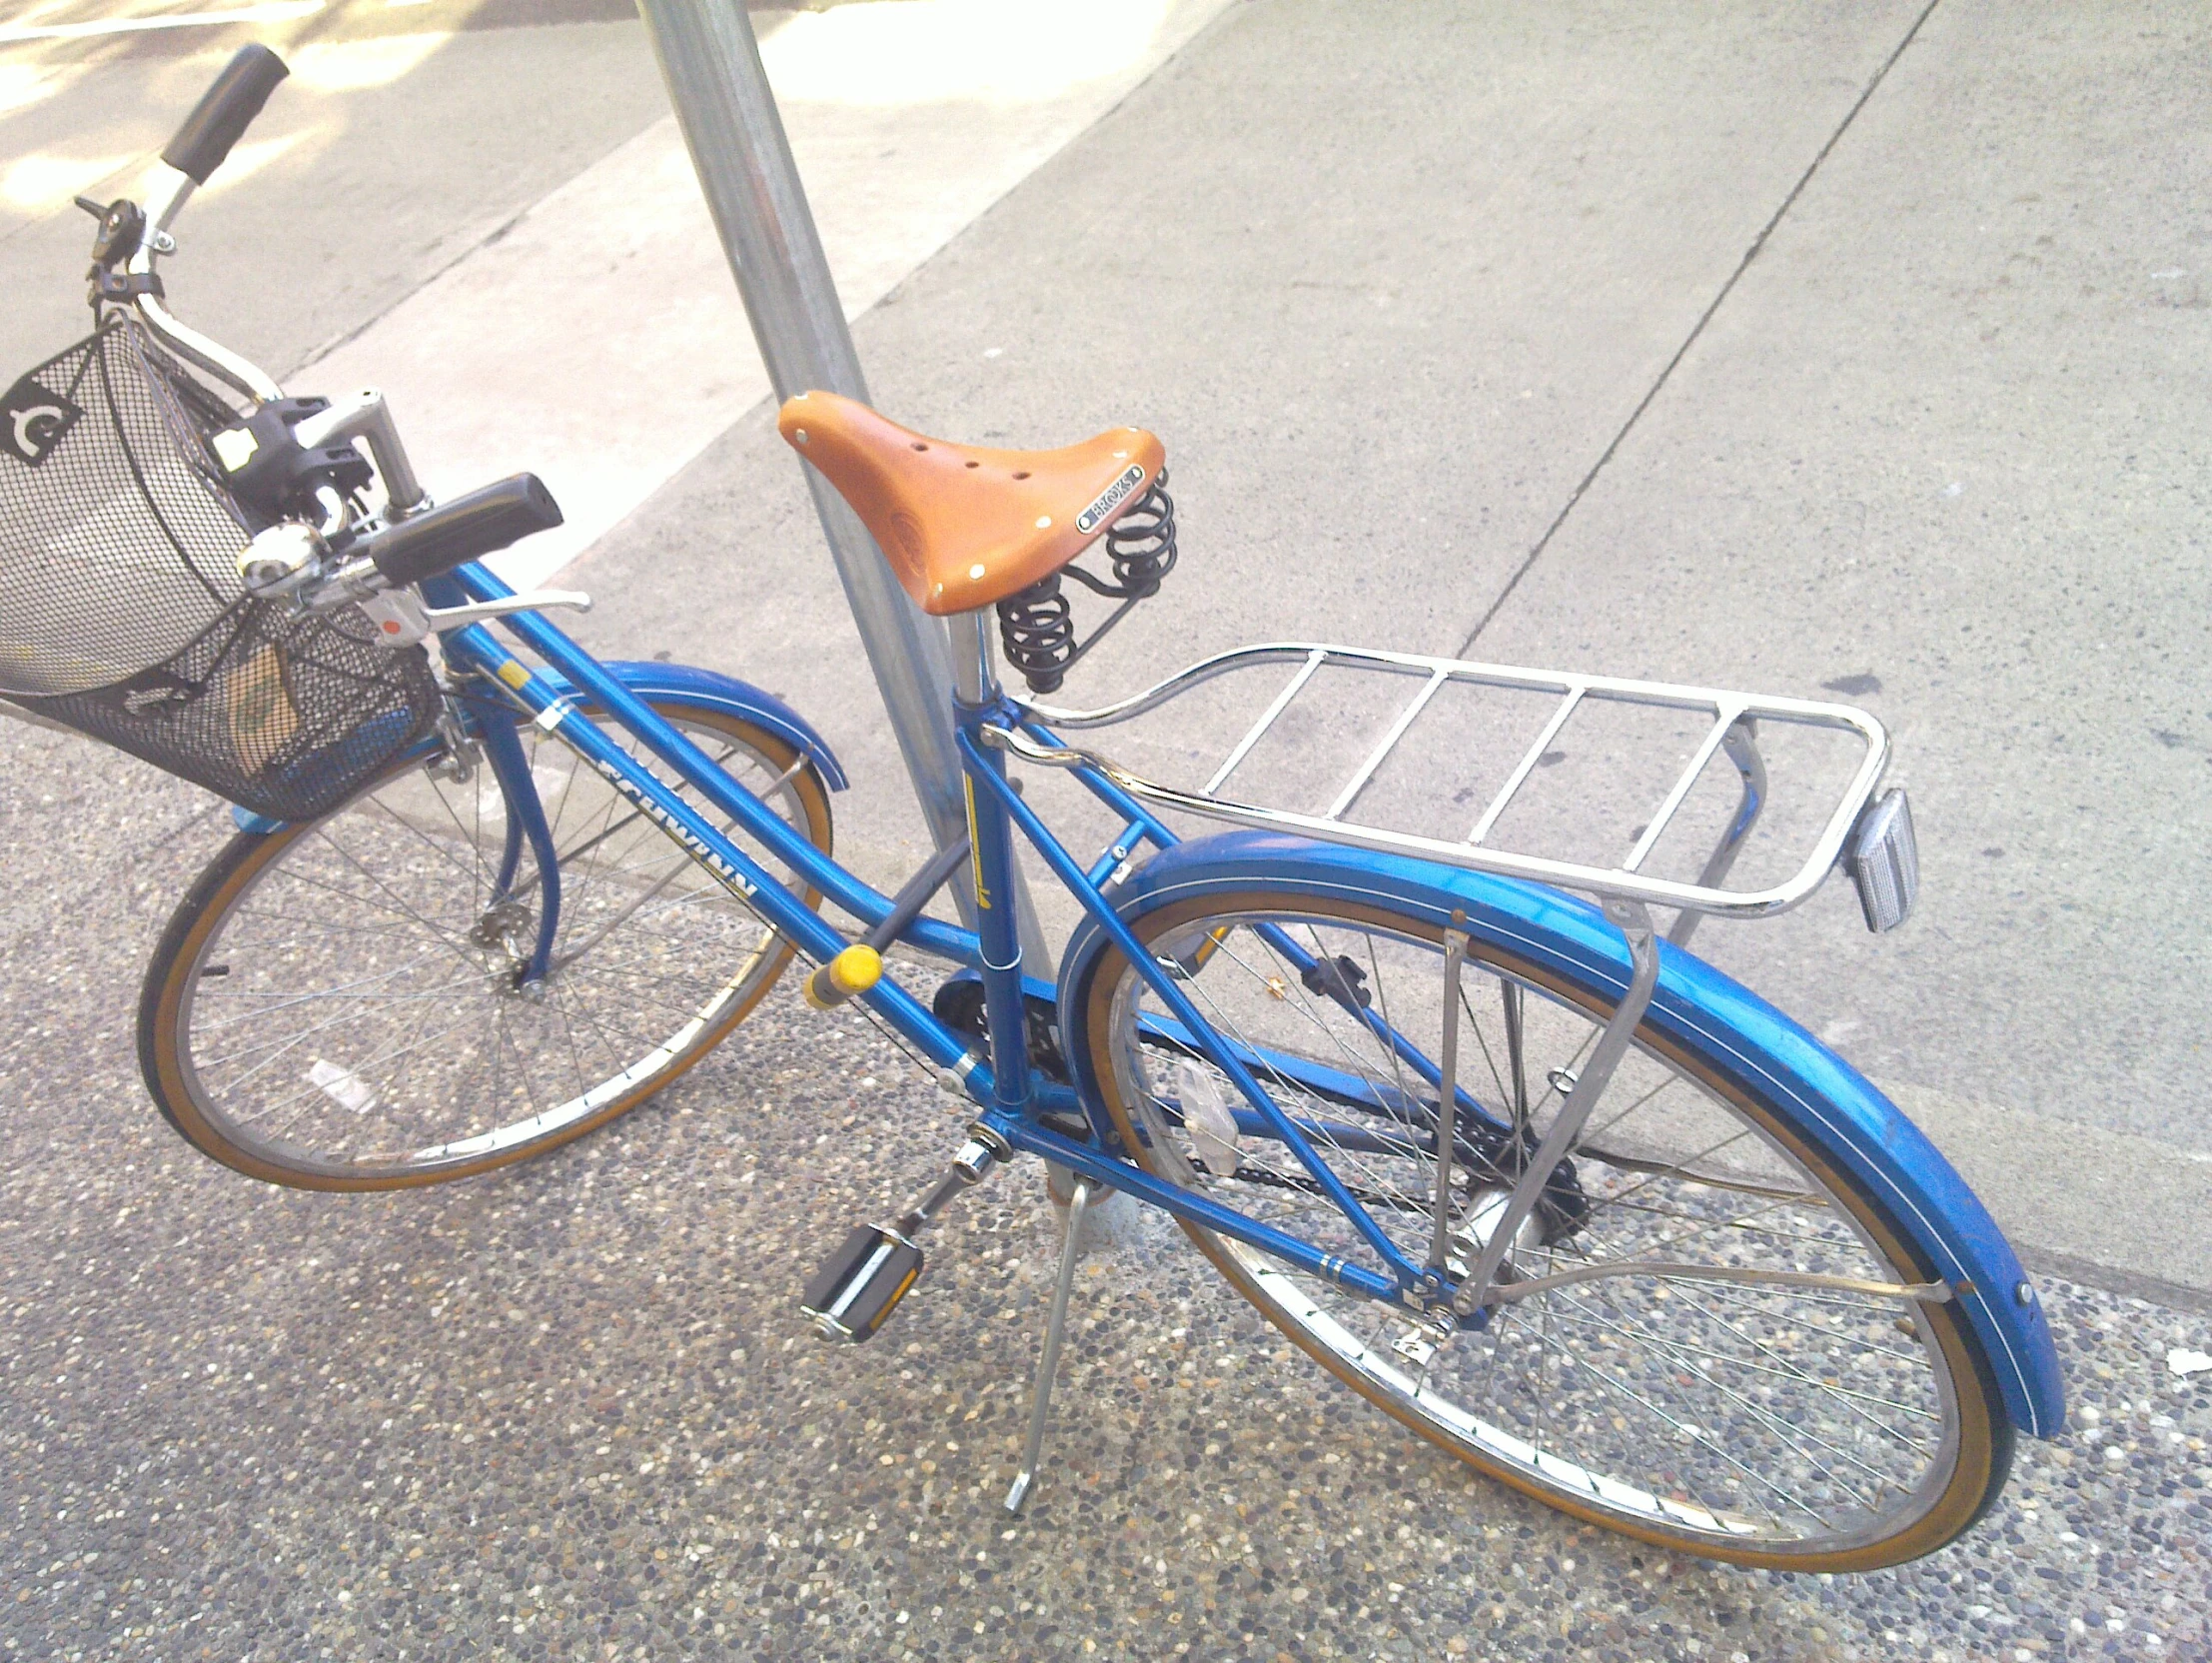
<instances>
[{"instance_id":1,"label":"bicycle's rear wheel with brown tyre, below the chrome rack","mask_svg":"<svg viewBox=\"0 0 2212 1663\"><path fill-rule=\"evenodd\" d=\"M1425 1263L1438 1141L1422 1061L1438 1055L1449 986L1440 929L1389 904L1263 891L1133 922L1391 1243ZM1615 997L1475 938L1460 973L1460 1086L1542 1134ZM1256 1117L1237 1121L1234 1088L1179 1042L1128 960L1106 951L1079 1008L1093 1077L1148 1170L1380 1269L1290 1148ZM1447 1207L1464 1267L1511 1188L1511 1137L1493 1134L1486 1159L1455 1148ZM1679 1552L1790 1570L1898 1563L1973 1524L2011 1462L2011 1426L1949 1305L1759 1280L1900 1285L1927 1272L1792 1117L1650 1024L1520 1232L1509 1276L1697 1263L1747 1280L1608 1274L1440 1336L1237 1241L1190 1234L1385 1413L1564 1513Z\"/></svg>"}]
</instances>

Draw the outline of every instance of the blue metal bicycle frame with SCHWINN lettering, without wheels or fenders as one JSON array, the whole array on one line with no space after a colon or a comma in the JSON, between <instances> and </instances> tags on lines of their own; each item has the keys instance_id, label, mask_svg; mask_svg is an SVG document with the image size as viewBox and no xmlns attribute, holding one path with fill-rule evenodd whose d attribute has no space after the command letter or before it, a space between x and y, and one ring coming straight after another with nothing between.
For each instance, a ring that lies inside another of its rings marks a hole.
<instances>
[{"instance_id":1,"label":"blue metal bicycle frame with SCHWINN lettering, without wheels or fenders","mask_svg":"<svg viewBox=\"0 0 2212 1663\"><path fill-rule=\"evenodd\" d=\"M511 597L498 577L482 566L462 566L449 579L425 586L427 597L438 604L495 602ZM891 913L891 898L856 878L836 860L823 856L814 845L794 834L759 796L723 774L706 752L701 752L677 728L655 714L641 699L608 674L597 659L571 641L562 630L546 624L535 613L515 613L500 619L533 655L566 679L562 690L546 677L529 670L498 637L482 624L451 630L442 637L447 661L465 674L480 679L484 688L498 688L531 723L553 739L575 750L615 792L637 812L650 818L666 836L681 845L692 860L710 871L717 882L752 907L776 933L790 940L801 953L816 962L827 962L849 942L821 916L805 907L768 867L745 849L726 838L706 816L644 763L624 752L591 721L580 719L577 705L597 705L619 728L635 736L672 776L699 792L714 809L730 816L748 836L757 838L768 854L807 887L821 891L838 911L860 920L863 929L880 924ZM1121 792L1113 781L1093 767L1071 770L1102 803L1128 818L1119 838L1086 869L1053 836L1011 787L1004 772L1002 752L987 743L987 732L1013 725L1024 728L1042 741L1051 741L1042 728L1026 723L1020 705L991 690L978 703L956 708L958 750L967 774L969 832L973 843L971 878L975 885L978 929L967 931L933 918L916 918L900 931L898 940L933 958L964 964L980 973L984 1002L991 1017L991 1046L987 1057L975 1057L969 1037L947 1026L911 993L885 977L860 995L867 1006L883 1017L902 1039L920 1050L938 1070L947 1088L960 1090L980 1106L980 1121L989 1126L1015 1150L1044 1157L1071 1168L1093 1183L1124 1190L1139 1201L1161 1207L1181 1221L1214 1230L1272 1254L1296 1269L1321 1276L1369 1298L1387 1303L1427 1305L1444 1291L1436 1272L1407 1258L1389 1236L1376 1225L1358 1199L1349 1194L1343 1179L1323 1161L1305 1132L1283 1112L1283 1108L1259 1086L1239 1048L1230 1046L1212 1031L1175 975L1146 953L1130 929L1115 913L1106 898L1106 887L1128 860L1137 840L1168 847L1175 834L1152 814ZM502 851L502 887L513 880L520 865L522 843L538 849L542 880L549 887L546 918L540 927L540 942L533 951L526 975L542 973L551 946L551 916L557 909L557 867L551 860L551 840L544 834L544 818L535 812L535 792L526 785L526 767L520 761L520 745L511 730L500 732L500 723L480 723L484 730L489 763L511 796L526 803L520 814L509 816L509 843ZM1084 1112L1073 1088L1040 1079L1029 1066L1026 1011L1022 951L1011 907L1013 893L1013 832L1044 858L1055 878L1082 902L1084 911L1106 931L1108 940L1121 949L1128 962L1152 986L1161 1004L1172 1013L1181 1033L1177 1044L1206 1055L1245 1097L1250 1112L1239 1115L1239 1123L1290 1148L1301 1165L1312 1174L1345 1219L1369 1243L1389 1274L1349 1265L1334 1254L1323 1254L1305 1241L1263 1225L1245 1214L1212 1201L1210 1196L1183 1190L1166 1179L1157 1179L1135 1161L1113 1150L1110 1128L1093 1119L1095 1141L1079 1143L1042 1123L1046 1112ZM958 880L958 878L956 878ZM1303 958L1287 940L1294 955ZM1433 1066L1420 1050L1400 1035L1389 1033L1380 1017L1367 1017L1376 1031L1416 1059L1431 1086L1438 1084ZM1270 1066L1276 1066L1270 1061ZM1338 1088L1338 1095L1345 1095ZM1354 1092L1356 1097L1356 1092ZM1462 1115L1482 1115L1489 1123L1500 1121L1464 1090L1455 1092ZM1427 1104L1374 1104L1387 1117L1411 1130L1431 1130L1436 1115ZM1416 1289L1427 1291L1422 1298Z\"/></svg>"}]
</instances>

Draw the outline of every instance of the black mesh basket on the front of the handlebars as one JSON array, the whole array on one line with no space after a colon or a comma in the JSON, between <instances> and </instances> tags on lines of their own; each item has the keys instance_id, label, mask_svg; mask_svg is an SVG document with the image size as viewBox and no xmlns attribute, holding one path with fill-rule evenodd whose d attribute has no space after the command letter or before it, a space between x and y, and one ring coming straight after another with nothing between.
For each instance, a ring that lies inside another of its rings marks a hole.
<instances>
[{"instance_id":1,"label":"black mesh basket on the front of the handlebars","mask_svg":"<svg viewBox=\"0 0 2212 1663\"><path fill-rule=\"evenodd\" d=\"M128 316L0 402L0 692L257 814L336 807L438 719L420 646L243 593L239 414Z\"/></svg>"}]
</instances>

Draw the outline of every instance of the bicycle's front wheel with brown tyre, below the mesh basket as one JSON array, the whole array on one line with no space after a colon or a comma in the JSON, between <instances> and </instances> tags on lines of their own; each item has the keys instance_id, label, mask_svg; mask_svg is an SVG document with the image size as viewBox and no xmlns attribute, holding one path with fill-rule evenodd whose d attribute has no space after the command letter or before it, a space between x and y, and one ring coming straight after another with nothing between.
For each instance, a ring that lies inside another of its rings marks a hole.
<instances>
[{"instance_id":1,"label":"bicycle's front wheel with brown tyre, below the mesh basket","mask_svg":"<svg viewBox=\"0 0 2212 1663\"><path fill-rule=\"evenodd\" d=\"M655 710L830 854L830 796L792 745L719 710ZM518 986L542 885L526 845L498 882L509 814L484 763L456 781L416 759L321 820L241 834L139 997L146 1086L190 1143L305 1190L462 1179L637 1108L761 1002L790 944L575 752L520 736L560 858L544 980Z\"/></svg>"}]
</instances>

